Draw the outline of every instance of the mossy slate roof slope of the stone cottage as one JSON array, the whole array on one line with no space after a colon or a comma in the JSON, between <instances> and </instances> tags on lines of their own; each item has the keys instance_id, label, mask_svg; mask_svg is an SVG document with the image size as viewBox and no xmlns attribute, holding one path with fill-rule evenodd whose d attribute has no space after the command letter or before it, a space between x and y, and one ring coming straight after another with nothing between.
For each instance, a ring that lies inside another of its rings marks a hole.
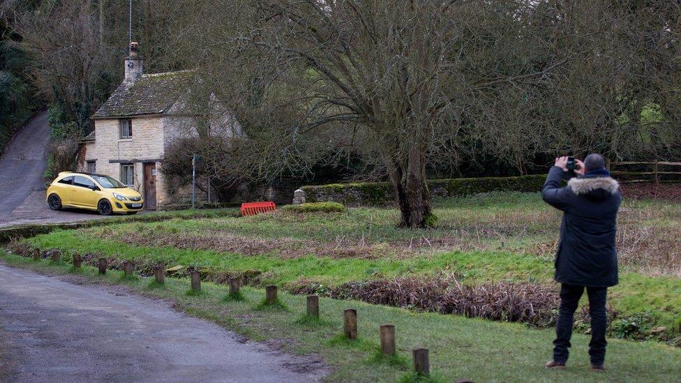
<instances>
[{"instance_id":1,"label":"mossy slate roof slope of the stone cottage","mask_svg":"<svg viewBox=\"0 0 681 383\"><path fill-rule=\"evenodd\" d=\"M93 119L163 114L186 91L193 70L142 75L124 81L99 108Z\"/></svg>"}]
</instances>

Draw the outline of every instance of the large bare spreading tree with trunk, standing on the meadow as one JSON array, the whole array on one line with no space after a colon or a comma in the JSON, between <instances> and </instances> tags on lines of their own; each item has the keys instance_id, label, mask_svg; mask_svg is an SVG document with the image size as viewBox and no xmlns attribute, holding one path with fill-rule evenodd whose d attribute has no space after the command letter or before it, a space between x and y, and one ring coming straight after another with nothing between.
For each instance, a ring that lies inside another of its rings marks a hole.
<instances>
[{"instance_id":1,"label":"large bare spreading tree with trunk, standing on the meadow","mask_svg":"<svg viewBox=\"0 0 681 383\"><path fill-rule=\"evenodd\" d=\"M190 45L200 47L192 55L204 85L232 103L251 139L266 130L272 140L275 130L276 142L260 146L289 153L283 160L300 160L296 146L304 142L329 144L319 137L330 132L361 141L387 172L407 227L433 218L426 186L431 154L455 151L461 135L503 104L502 88L543 84L569 60L554 54L560 36L535 27L532 6L523 2L220 6L220 13L197 10L201 22L188 32Z\"/></svg>"}]
</instances>

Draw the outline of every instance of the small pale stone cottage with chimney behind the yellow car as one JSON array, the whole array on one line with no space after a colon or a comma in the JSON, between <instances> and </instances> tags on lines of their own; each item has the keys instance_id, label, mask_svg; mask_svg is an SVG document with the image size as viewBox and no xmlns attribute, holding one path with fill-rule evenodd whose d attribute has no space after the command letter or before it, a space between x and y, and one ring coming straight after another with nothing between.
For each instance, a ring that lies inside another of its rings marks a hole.
<instances>
[{"instance_id":1,"label":"small pale stone cottage with chimney behind the yellow car","mask_svg":"<svg viewBox=\"0 0 681 383\"><path fill-rule=\"evenodd\" d=\"M195 75L144 74L138 50L137 43L130 44L124 81L92 116L95 128L84 139L80 170L119 179L142 193L147 209L156 209L190 197L186 188L169 195L159 165L173 140L196 134L191 128L196 116L183 107Z\"/></svg>"}]
</instances>

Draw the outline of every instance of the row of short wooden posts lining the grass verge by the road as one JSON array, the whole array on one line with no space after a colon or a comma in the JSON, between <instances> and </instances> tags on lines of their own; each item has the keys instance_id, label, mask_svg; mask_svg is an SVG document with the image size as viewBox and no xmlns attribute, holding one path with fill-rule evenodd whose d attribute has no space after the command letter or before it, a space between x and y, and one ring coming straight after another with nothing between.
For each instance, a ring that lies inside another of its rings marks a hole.
<instances>
[{"instance_id":1,"label":"row of short wooden posts lining the grass verge by the road","mask_svg":"<svg viewBox=\"0 0 681 383\"><path fill-rule=\"evenodd\" d=\"M54 251L50 255L50 259L54 262L59 262L61 253ZM33 254L34 260L40 260L40 251L36 249ZM73 267L80 268L83 262L79 254L73 255ZM100 274L105 274L107 270L107 259L100 257L97 262L98 271ZM123 271L126 277L133 276L133 262L125 261L123 263ZM165 267L154 267L154 280L156 283L165 283ZM239 287L241 280L239 278L230 278L230 295L235 296L239 294ZM192 271L191 273L191 291L201 292L201 273L199 271ZM272 305L277 301L277 287L269 285L265 287L265 303ZM310 317L319 318L319 296L307 296L307 315ZM343 333L347 339L357 339L357 310L348 308L343 310ZM394 356L397 352L395 347L395 326L392 324L384 324L380 326L381 338L381 352L384 356ZM417 348L412 350L412 358L414 359L414 371L421 375L428 375L430 373L430 363L428 361L428 349Z\"/></svg>"}]
</instances>

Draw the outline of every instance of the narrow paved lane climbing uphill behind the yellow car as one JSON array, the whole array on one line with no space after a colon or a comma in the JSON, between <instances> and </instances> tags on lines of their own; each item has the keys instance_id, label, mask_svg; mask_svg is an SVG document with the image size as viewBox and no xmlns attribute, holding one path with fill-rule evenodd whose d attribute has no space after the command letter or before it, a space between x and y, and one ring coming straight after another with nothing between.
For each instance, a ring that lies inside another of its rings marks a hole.
<instances>
[{"instance_id":1,"label":"narrow paved lane climbing uphill behind the yellow car","mask_svg":"<svg viewBox=\"0 0 681 383\"><path fill-rule=\"evenodd\" d=\"M96 212L47 207L43 173L49 142L47 112L40 112L8 143L0 158L0 227L101 218Z\"/></svg>"}]
</instances>

